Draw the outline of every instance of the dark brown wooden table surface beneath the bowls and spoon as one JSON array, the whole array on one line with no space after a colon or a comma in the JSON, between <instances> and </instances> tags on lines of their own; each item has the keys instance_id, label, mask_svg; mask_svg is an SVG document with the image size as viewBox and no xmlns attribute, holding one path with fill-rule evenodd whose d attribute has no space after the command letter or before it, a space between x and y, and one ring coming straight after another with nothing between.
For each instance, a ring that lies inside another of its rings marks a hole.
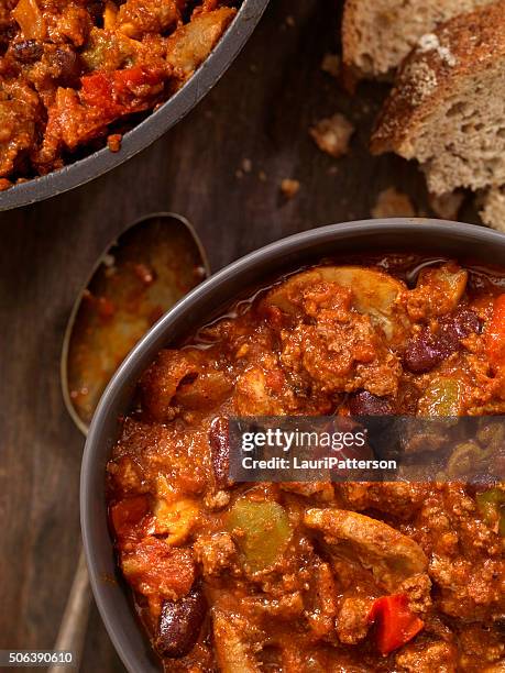
<instances>
[{"instance_id":1,"label":"dark brown wooden table surface beneath the bowls and spoon","mask_svg":"<svg viewBox=\"0 0 505 673\"><path fill-rule=\"evenodd\" d=\"M74 299L108 242L140 216L173 210L194 222L216 271L287 234L367 218L392 185L428 212L415 166L367 153L384 85L351 99L320 69L338 49L339 4L273 0L176 129L80 189L0 214L0 648L53 646L75 570L84 440L62 401L59 355ZM342 159L308 134L337 111L358 124ZM301 184L288 201L283 178ZM81 670L123 670L95 608Z\"/></svg>"}]
</instances>

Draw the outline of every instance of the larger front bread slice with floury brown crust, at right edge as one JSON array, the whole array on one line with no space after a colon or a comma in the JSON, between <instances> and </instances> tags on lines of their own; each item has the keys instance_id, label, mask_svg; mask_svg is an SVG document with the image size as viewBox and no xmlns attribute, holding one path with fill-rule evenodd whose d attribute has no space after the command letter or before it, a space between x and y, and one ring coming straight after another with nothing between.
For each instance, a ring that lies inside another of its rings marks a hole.
<instances>
[{"instance_id":1,"label":"larger front bread slice with floury brown crust, at right edge","mask_svg":"<svg viewBox=\"0 0 505 673\"><path fill-rule=\"evenodd\" d=\"M505 0L422 36L371 148L417 158L436 195L505 184Z\"/></svg>"}]
</instances>

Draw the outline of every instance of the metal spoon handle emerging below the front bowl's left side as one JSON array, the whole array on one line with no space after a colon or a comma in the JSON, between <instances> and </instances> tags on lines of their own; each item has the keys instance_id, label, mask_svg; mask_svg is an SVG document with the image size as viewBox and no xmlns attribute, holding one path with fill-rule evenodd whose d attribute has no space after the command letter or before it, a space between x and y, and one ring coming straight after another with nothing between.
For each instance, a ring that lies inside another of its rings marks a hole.
<instances>
[{"instance_id":1,"label":"metal spoon handle emerging below the front bowl's left side","mask_svg":"<svg viewBox=\"0 0 505 673\"><path fill-rule=\"evenodd\" d=\"M89 585L88 569L86 567L86 559L81 548L76 574L72 583L65 613L63 614L58 636L54 646L55 650L69 650L73 652L77 670L80 668L90 607L91 587ZM59 673L61 670L62 668L55 664L47 671L48 673Z\"/></svg>"}]
</instances>

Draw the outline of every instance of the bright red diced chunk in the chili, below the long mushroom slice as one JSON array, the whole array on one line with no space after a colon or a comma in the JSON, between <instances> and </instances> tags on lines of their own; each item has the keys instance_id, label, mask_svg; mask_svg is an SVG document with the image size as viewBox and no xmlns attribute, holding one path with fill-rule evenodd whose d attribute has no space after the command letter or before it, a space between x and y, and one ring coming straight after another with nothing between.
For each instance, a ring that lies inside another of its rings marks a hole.
<instances>
[{"instance_id":1,"label":"bright red diced chunk in the chili, below the long mushroom slice","mask_svg":"<svg viewBox=\"0 0 505 673\"><path fill-rule=\"evenodd\" d=\"M406 594L377 598L370 610L369 621L376 625L376 643L382 654L400 648L425 626L408 607Z\"/></svg>"}]
</instances>

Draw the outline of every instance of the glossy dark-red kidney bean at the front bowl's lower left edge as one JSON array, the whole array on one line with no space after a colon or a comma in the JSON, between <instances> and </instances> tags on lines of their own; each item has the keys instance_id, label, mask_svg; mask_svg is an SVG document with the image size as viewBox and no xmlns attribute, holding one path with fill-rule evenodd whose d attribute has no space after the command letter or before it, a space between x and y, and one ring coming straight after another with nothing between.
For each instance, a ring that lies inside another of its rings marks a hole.
<instances>
[{"instance_id":1,"label":"glossy dark-red kidney bean at the front bowl's lower left edge","mask_svg":"<svg viewBox=\"0 0 505 673\"><path fill-rule=\"evenodd\" d=\"M198 640L207 611L207 600L199 586L179 600L164 600L156 648L164 657L187 654Z\"/></svg>"}]
</instances>

